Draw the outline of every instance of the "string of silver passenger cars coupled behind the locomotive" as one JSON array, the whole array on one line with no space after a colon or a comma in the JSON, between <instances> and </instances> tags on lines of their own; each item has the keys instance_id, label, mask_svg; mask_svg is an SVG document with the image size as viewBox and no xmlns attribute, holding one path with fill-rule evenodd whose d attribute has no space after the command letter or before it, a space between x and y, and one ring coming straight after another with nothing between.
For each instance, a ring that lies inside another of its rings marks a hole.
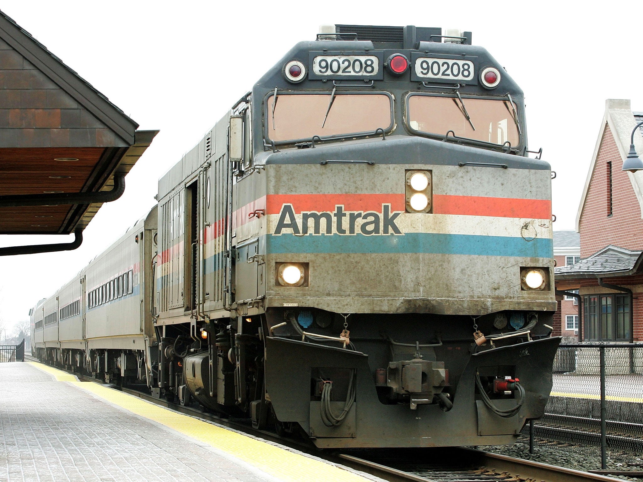
<instances>
[{"instance_id":1,"label":"string of silver passenger cars coupled behind the locomotive","mask_svg":"<svg viewBox=\"0 0 643 482\"><path fill-rule=\"evenodd\" d=\"M34 355L108 382L152 384L150 363L158 359L152 274L141 266L146 260L151 266L156 256L156 223L154 208L73 280L32 308Z\"/></svg>"}]
</instances>

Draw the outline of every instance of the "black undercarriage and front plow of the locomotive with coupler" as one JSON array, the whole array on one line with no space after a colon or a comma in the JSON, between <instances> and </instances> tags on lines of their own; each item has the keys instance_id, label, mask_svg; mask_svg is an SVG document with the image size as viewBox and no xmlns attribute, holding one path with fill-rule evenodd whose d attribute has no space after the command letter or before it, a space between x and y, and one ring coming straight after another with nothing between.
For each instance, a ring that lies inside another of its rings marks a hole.
<instances>
[{"instance_id":1,"label":"black undercarriage and front plow of the locomotive with coupler","mask_svg":"<svg viewBox=\"0 0 643 482\"><path fill-rule=\"evenodd\" d=\"M153 391L305 434L318 447L512 443L547 402L559 343L551 319L297 307L212 320L203 335L168 325L158 327ZM488 338L476 344L473 332Z\"/></svg>"}]
</instances>

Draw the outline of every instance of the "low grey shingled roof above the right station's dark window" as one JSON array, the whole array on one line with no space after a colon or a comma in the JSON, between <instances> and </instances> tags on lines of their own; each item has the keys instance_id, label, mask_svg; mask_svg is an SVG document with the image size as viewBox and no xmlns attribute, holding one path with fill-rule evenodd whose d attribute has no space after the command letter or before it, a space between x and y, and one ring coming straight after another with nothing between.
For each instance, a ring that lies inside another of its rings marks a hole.
<instances>
[{"instance_id":1,"label":"low grey shingled roof above the right station's dark window","mask_svg":"<svg viewBox=\"0 0 643 482\"><path fill-rule=\"evenodd\" d=\"M556 267L554 272L557 280L628 276L638 271L642 253L610 244L573 265Z\"/></svg>"}]
</instances>

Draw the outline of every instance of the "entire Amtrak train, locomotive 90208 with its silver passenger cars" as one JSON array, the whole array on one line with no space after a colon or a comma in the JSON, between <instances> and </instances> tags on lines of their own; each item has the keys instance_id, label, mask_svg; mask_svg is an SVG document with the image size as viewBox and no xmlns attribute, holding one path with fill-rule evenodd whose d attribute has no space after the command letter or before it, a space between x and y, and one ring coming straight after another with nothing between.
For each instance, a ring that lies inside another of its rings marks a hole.
<instances>
[{"instance_id":1,"label":"entire Amtrak train, locomotive 90208 with its silver passenger cars","mask_svg":"<svg viewBox=\"0 0 643 482\"><path fill-rule=\"evenodd\" d=\"M559 343L551 171L447 33L296 44L32 309L34 354L321 448L514 442Z\"/></svg>"}]
</instances>

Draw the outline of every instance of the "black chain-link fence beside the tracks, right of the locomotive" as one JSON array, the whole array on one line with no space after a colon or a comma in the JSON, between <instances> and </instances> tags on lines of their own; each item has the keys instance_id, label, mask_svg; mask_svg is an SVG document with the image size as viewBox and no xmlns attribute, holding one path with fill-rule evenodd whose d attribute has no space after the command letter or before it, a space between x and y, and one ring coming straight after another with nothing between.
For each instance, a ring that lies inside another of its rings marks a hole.
<instances>
[{"instance_id":1,"label":"black chain-link fence beside the tracks, right of the locomotive","mask_svg":"<svg viewBox=\"0 0 643 482\"><path fill-rule=\"evenodd\" d=\"M566 343L554 359L545 416L521 433L550 447L574 445L588 458L641 465L643 343Z\"/></svg>"}]
</instances>

